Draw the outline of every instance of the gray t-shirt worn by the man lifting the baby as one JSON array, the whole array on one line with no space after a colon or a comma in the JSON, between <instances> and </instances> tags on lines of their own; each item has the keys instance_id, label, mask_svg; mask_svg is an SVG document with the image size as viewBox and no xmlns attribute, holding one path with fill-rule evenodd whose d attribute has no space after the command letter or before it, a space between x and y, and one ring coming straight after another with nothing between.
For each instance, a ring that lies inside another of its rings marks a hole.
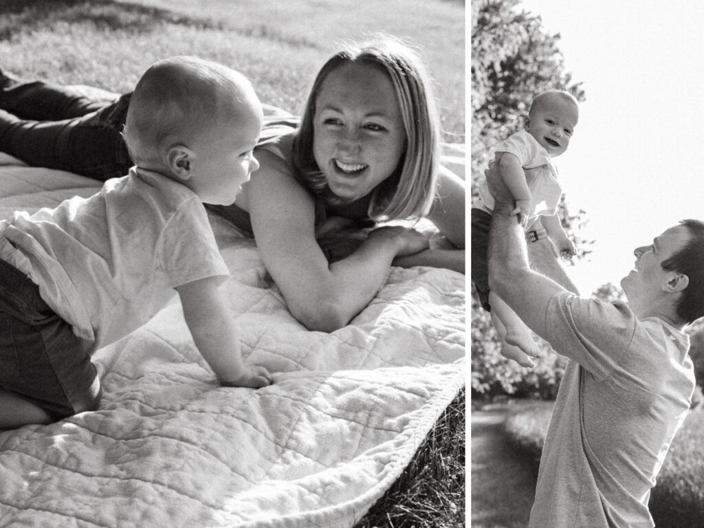
<instances>
[{"instance_id":1,"label":"gray t-shirt worn by the man lifting the baby","mask_svg":"<svg viewBox=\"0 0 704 528\"><path fill-rule=\"evenodd\" d=\"M562 291L547 340L570 358L540 461L531 528L653 527L650 489L694 390L689 336L626 303Z\"/></svg>"}]
</instances>

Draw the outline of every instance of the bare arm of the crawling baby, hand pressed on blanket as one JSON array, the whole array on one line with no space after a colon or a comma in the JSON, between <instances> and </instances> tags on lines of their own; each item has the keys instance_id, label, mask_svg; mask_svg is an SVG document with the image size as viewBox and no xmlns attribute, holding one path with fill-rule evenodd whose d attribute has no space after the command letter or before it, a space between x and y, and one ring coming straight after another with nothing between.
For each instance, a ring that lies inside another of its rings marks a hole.
<instances>
[{"instance_id":1,"label":"bare arm of the crawling baby, hand pressed on blanket","mask_svg":"<svg viewBox=\"0 0 704 528\"><path fill-rule=\"evenodd\" d=\"M264 367L242 361L227 303L218 289L221 279L208 277L176 288L196 348L221 384L254 388L268 385L271 377Z\"/></svg>"}]
</instances>

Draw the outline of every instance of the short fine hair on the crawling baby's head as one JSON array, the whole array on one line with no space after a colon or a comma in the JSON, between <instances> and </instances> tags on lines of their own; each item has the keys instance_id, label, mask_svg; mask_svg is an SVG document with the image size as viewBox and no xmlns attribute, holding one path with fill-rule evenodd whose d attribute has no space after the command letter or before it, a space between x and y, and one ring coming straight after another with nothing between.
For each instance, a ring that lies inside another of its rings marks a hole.
<instances>
[{"instance_id":1,"label":"short fine hair on the crawling baby's head","mask_svg":"<svg viewBox=\"0 0 704 528\"><path fill-rule=\"evenodd\" d=\"M132 161L155 161L166 143L187 143L206 125L237 115L243 86L251 87L244 75L197 57L151 65L134 88L122 134Z\"/></svg>"}]
</instances>

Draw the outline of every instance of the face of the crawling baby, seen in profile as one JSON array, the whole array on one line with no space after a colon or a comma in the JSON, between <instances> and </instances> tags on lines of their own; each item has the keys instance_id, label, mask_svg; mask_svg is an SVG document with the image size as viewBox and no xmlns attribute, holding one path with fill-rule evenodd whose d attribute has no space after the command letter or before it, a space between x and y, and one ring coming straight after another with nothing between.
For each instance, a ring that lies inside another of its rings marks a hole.
<instances>
[{"instance_id":1,"label":"face of the crawling baby, seen in profile","mask_svg":"<svg viewBox=\"0 0 704 528\"><path fill-rule=\"evenodd\" d=\"M263 122L261 105L256 101L241 108L238 114L221 118L194 148L195 171L187 185L205 203L234 203L242 185L259 168L253 149Z\"/></svg>"}]
</instances>

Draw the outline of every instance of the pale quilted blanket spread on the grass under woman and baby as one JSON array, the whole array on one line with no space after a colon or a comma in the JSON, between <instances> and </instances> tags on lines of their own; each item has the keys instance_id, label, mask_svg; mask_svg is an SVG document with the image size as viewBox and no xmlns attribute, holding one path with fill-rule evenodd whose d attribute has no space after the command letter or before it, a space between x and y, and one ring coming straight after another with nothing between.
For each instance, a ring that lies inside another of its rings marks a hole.
<instances>
[{"instance_id":1,"label":"pale quilted blanket spread on the grass under woman and baby","mask_svg":"<svg viewBox=\"0 0 704 528\"><path fill-rule=\"evenodd\" d=\"M2 161L0 218L96 191ZM274 384L218 386L172 302L96 353L99 410L0 433L0 527L352 527L463 386L463 275L393 268L348 326L309 332L254 241L211 222L244 357Z\"/></svg>"}]
</instances>

